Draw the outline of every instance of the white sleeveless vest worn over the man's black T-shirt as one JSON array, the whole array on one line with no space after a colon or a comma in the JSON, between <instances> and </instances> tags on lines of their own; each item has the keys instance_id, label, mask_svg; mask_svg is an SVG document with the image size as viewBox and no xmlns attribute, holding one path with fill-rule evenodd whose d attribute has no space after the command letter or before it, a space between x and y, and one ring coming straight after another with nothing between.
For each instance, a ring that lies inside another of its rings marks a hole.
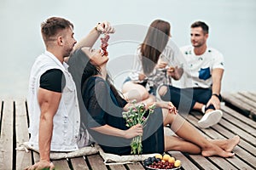
<instances>
[{"instance_id":1,"label":"white sleeveless vest worn over the man's black T-shirt","mask_svg":"<svg viewBox=\"0 0 256 170\"><path fill-rule=\"evenodd\" d=\"M66 79L66 86L61 94L61 101L55 113L53 124L53 135L50 150L53 151L72 151L78 150L80 113L79 102L75 83L71 74L67 71L68 65L48 51L41 54L32 66L28 90L28 111L30 115L29 133L31 138L29 143L33 148L38 149L38 133L40 120L40 107L38 105L38 88L42 74L50 69L60 69Z\"/></svg>"}]
</instances>

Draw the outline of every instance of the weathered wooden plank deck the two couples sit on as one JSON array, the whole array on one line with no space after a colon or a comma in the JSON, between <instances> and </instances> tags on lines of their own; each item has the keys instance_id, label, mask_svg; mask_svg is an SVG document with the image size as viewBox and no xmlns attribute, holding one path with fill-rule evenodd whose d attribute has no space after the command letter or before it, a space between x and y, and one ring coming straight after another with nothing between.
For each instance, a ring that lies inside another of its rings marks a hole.
<instances>
[{"instance_id":1,"label":"weathered wooden plank deck the two couples sit on","mask_svg":"<svg viewBox=\"0 0 256 170\"><path fill-rule=\"evenodd\" d=\"M236 95L239 98L235 102L233 96ZM256 122L248 116L255 111L255 96L256 93L247 92L224 94L224 100L232 109L227 105L222 105L222 110L224 111L223 119L217 125L208 129L197 127L197 121L201 118L200 113L193 112L186 117L190 123L209 139L227 139L238 134L241 137L241 142L236 146L234 150L236 156L233 158L203 157L178 151L170 151L168 153L182 161L181 169L256 169ZM241 99L244 100L241 101ZM241 109L238 111L247 111L249 114L244 116L243 112L241 114L233 110L236 108ZM26 153L24 150L15 150L16 146L29 139L27 132L29 117L26 99L0 99L0 111L0 169L23 169L38 161L39 156L36 152L30 151ZM98 154L53 162L55 169L64 170L144 169L141 162L106 166L102 157Z\"/></svg>"}]
</instances>

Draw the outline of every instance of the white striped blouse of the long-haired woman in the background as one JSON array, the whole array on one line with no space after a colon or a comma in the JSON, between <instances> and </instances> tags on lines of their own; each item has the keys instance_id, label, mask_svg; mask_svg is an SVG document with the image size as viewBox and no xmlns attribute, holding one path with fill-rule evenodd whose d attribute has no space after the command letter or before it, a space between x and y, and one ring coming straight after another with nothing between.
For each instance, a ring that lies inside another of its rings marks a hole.
<instances>
[{"instance_id":1,"label":"white striped blouse of the long-haired woman in the background","mask_svg":"<svg viewBox=\"0 0 256 170\"><path fill-rule=\"evenodd\" d=\"M143 64L142 64L142 54L141 54L141 46L137 48L137 54L134 59L133 68L129 77L133 82L142 82L139 81L138 76L140 73L143 73ZM147 87L158 87L161 84L172 85L172 77L169 77L166 74L166 69L170 66L178 66L183 67L183 54L180 52L180 49L177 48L176 44L172 42L171 39L166 44L166 48L164 48L163 52L160 54L160 58L158 62L164 61L167 62L166 68L164 69L156 69L149 74L146 79L148 80Z\"/></svg>"}]
</instances>

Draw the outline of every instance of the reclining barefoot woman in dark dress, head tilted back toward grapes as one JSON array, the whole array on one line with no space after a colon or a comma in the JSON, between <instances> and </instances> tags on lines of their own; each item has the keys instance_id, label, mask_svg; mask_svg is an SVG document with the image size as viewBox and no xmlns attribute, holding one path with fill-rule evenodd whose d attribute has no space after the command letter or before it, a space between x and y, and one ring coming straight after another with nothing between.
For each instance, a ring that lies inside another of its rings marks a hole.
<instances>
[{"instance_id":1,"label":"reclining barefoot woman in dark dress, head tilted back toward grapes","mask_svg":"<svg viewBox=\"0 0 256 170\"><path fill-rule=\"evenodd\" d=\"M146 127L140 124L126 127L122 112L128 111L131 104L122 98L110 81L106 68L108 56L102 54L100 49L84 47L75 51L72 58L81 58L85 63L81 92L86 109L81 114L86 117L84 124L90 135L105 152L129 155L131 139L143 135L143 154L179 150L202 156L234 156L231 151L240 137L205 139L195 127L173 111L171 102L154 102L157 108L149 116ZM177 136L164 135L163 127L167 124Z\"/></svg>"}]
</instances>

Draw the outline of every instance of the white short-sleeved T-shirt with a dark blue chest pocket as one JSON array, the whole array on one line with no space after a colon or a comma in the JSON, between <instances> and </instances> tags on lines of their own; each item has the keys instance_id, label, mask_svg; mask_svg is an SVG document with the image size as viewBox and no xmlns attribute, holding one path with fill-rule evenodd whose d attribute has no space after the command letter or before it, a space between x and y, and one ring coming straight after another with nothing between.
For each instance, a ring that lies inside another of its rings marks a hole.
<instances>
[{"instance_id":1,"label":"white short-sleeved T-shirt with a dark blue chest pocket","mask_svg":"<svg viewBox=\"0 0 256 170\"><path fill-rule=\"evenodd\" d=\"M201 55L195 55L191 45L181 48L188 68L184 69L181 88L210 88L212 70L224 69L224 57L214 48L207 48Z\"/></svg>"}]
</instances>

